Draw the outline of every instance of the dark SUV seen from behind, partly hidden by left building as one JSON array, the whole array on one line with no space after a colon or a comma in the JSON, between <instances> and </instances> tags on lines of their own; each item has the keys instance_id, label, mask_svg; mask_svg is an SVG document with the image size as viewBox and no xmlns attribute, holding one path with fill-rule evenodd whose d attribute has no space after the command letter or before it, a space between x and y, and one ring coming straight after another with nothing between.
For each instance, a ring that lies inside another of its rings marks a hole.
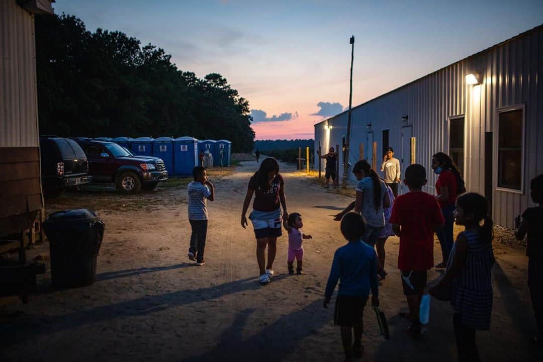
<instances>
[{"instance_id":1,"label":"dark SUV seen from behind, partly hidden by left building","mask_svg":"<svg viewBox=\"0 0 543 362\"><path fill-rule=\"evenodd\" d=\"M48 196L92 181L87 156L73 139L41 136L40 157L43 192Z\"/></svg>"}]
</instances>

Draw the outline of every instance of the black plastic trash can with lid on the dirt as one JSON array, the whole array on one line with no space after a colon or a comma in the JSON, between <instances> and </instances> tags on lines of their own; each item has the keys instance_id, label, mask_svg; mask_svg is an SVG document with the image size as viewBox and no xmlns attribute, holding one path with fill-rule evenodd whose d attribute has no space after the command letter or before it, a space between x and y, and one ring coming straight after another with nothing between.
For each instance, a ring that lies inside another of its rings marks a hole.
<instances>
[{"instance_id":1,"label":"black plastic trash can with lid on the dirt","mask_svg":"<svg viewBox=\"0 0 543 362\"><path fill-rule=\"evenodd\" d=\"M53 287L84 287L96 281L96 256L104 222L87 209L55 212L43 223L49 239Z\"/></svg>"}]
</instances>

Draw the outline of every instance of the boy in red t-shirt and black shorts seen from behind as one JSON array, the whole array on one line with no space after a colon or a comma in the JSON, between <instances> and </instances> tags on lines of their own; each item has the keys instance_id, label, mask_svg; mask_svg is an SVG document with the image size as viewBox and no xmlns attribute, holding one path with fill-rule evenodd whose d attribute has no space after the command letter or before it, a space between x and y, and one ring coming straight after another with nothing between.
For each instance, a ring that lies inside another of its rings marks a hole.
<instances>
[{"instance_id":1,"label":"boy in red t-shirt and black shorts seen from behind","mask_svg":"<svg viewBox=\"0 0 543 362\"><path fill-rule=\"evenodd\" d=\"M426 288L427 271L434 266L434 231L445 223L435 197L422 192L426 182L426 170L422 165L409 166L403 180L409 192L394 201L390 216L394 233L400 237L398 269L412 321L409 332L414 335L421 332L420 300Z\"/></svg>"}]
</instances>

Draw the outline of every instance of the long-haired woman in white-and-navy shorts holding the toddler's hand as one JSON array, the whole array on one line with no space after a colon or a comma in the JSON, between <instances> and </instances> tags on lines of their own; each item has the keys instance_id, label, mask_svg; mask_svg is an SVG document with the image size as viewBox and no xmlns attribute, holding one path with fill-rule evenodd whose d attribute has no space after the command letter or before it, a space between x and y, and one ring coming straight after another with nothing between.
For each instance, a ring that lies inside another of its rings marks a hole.
<instances>
[{"instance_id":1,"label":"long-haired woman in white-and-navy shorts holding the toddler's hand","mask_svg":"<svg viewBox=\"0 0 543 362\"><path fill-rule=\"evenodd\" d=\"M282 235L281 206L283 207L282 218L288 220L285 181L283 181L283 177L279 173L279 163L275 158L265 158L258 171L249 180L241 213L241 226L243 228L248 225L245 214L247 214L253 194L255 194L255 201L252 204L249 219L255 230L256 260L260 269L260 283L266 284L270 282L270 278L274 275L272 267L277 252L277 238ZM267 264L266 246L268 246Z\"/></svg>"}]
</instances>

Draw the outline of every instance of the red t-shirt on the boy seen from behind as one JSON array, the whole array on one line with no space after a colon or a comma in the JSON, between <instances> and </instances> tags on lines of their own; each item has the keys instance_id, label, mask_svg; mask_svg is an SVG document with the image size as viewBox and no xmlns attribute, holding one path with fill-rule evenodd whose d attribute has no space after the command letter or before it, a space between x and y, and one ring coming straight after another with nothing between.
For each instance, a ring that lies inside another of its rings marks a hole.
<instances>
[{"instance_id":1,"label":"red t-shirt on the boy seen from behind","mask_svg":"<svg viewBox=\"0 0 543 362\"><path fill-rule=\"evenodd\" d=\"M398 269L430 270L434 266L434 225L443 225L443 214L434 196L408 192L394 200L390 224L399 224Z\"/></svg>"}]
</instances>

